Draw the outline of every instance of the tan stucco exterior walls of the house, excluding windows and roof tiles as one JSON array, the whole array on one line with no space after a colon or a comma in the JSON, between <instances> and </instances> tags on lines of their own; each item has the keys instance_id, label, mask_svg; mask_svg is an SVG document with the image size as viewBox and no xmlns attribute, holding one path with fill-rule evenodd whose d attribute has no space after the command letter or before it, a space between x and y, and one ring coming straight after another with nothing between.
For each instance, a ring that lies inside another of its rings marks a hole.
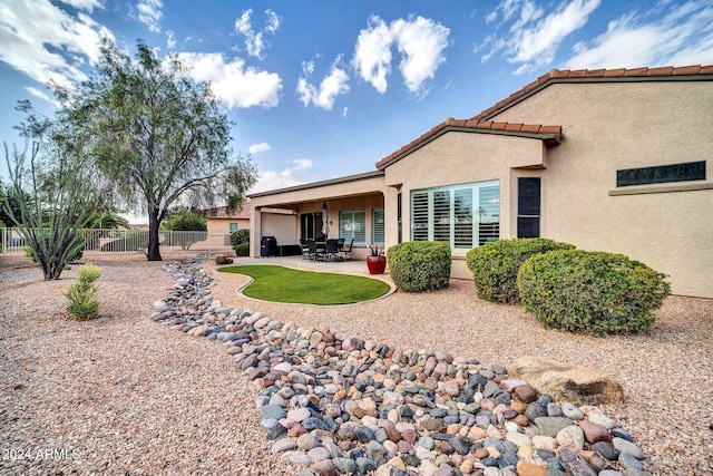
<instances>
[{"instance_id":1,"label":"tan stucco exterior walls of the house, excluding windows and roof tiles","mask_svg":"<svg viewBox=\"0 0 713 476\"><path fill-rule=\"evenodd\" d=\"M382 175L253 196L252 243L260 243L260 207L300 214L326 202L333 222L340 210L383 206L388 247L398 242L399 194L408 241L413 191L484 181L498 181L500 237L515 237L518 177L535 176L541 179L540 236L628 255L668 274L674 293L713 298L713 75L627 78L617 70L615 78L597 71L594 79L560 80L563 72L550 71L476 116L477 126L452 127L449 119L434 127L381 161ZM564 136L526 133L538 126L496 132L481 127L486 123L557 125ZM706 161L705 179L616 186L619 169L696 161ZM453 253L451 275L471 278L465 253Z\"/></svg>"}]
</instances>

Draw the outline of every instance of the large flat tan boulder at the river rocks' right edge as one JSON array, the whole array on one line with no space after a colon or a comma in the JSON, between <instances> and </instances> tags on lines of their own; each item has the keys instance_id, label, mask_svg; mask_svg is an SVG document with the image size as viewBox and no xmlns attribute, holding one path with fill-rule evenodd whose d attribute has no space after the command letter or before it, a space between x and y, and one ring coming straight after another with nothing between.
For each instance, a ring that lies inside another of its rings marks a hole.
<instances>
[{"instance_id":1,"label":"large flat tan boulder at the river rocks' right edge","mask_svg":"<svg viewBox=\"0 0 713 476\"><path fill-rule=\"evenodd\" d=\"M540 394L576 405L624 401L624 388L597 371L574 367L545 357L522 357L508 367L511 379L526 380Z\"/></svg>"}]
</instances>

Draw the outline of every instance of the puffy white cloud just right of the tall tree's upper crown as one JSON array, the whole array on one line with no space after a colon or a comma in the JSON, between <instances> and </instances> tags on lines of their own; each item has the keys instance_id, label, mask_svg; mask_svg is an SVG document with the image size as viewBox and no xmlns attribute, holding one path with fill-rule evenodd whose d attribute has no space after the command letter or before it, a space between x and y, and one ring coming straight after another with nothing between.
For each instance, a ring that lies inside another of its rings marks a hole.
<instances>
[{"instance_id":1,"label":"puffy white cloud just right of the tall tree's upper crown","mask_svg":"<svg viewBox=\"0 0 713 476\"><path fill-rule=\"evenodd\" d=\"M189 67L197 81L209 81L213 93L228 107L274 107L280 103L282 79L276 72L245 67L245 60L225 62L221 52L182 52L178 57Z\"/></svg>"}]
</instances>

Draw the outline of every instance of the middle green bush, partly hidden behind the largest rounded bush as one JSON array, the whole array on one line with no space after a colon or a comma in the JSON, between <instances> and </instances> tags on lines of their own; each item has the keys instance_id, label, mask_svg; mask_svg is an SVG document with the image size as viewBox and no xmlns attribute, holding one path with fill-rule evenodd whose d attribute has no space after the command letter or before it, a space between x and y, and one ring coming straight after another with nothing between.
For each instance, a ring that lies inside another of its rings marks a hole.
<instances>
[{"instance_id":1,"label":"middle green bush, partly hidden behind the largest rounded bush","mask_svg":"<svg viewBox=\"0 0 713 476\"><path fill-rule=\"evenodd\" d=\"M547 239L498 240L473 247L466 254L466 265L476 283L478 298L517 304L517 272L528 258L575 246Z\"/></svg>"}]
</instances>

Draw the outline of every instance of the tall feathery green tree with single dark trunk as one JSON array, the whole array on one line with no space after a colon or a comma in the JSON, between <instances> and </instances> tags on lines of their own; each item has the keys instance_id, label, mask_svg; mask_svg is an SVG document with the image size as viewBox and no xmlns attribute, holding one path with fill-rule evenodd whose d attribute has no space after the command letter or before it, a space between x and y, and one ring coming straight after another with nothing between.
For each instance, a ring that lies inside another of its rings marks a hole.
<instances>
[{"instance_id":1,"label":"tall feathery green tree with single dark trunk","mask_svg":"<svg viewBox=\"0 0 713 476\"><path fill-rule=\"evenodd\" d=\"M59 116L115 196L147 214L147 258L159 261L159 227L173 204L236 207L256 171L231 150L231 123L209 84L193 80L177 55L162 60L141 41L134 59L107 38L100 47L88 80L55 86Z\"/></svg>"}]
</instances>

